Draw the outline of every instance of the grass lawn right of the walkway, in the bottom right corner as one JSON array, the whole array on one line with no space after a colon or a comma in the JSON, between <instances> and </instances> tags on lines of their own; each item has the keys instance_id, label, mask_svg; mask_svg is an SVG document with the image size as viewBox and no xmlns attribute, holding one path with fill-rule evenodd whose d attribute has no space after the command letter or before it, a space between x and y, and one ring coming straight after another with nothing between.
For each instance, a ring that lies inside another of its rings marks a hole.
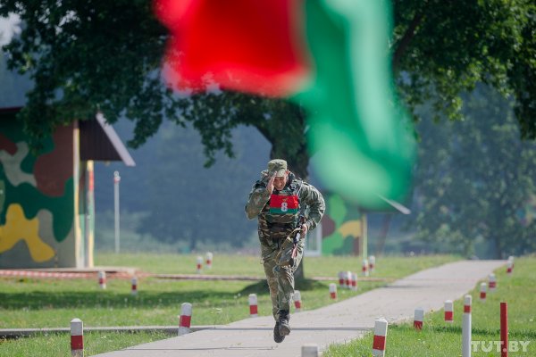
<instances>
[{"instance_id":1,"label":"grass lawn right of the walkway, in the bottom right corner","mask_svg":"<svg viewBox=\"0 0 536 357\"><path fill-rule=\"evenodd\" d=\"M510 351L509 357L536 356L536 257L518 258L515 270L507 276L506 269L495 271L498 288L488 292L486 302L480 301L480 283L470 293L473 296L473 341L481 341L473 357L499 356L493 341L500 341L500 302L508 304L509 341L529 342L526 352ZM463 299L455 302L454 323L443 321L443 311L425 316L423 331L413 328L413 321L389 326L385 354L397 357L461 356L461 326ZM330 356L372 356L373 334L348 345L331 345L322 354ZM482 348L483 347L483 348ZM489 351L491 349L491 351ZM488 352L485 352L486 350Z\"/></svg>"}]
</instances>

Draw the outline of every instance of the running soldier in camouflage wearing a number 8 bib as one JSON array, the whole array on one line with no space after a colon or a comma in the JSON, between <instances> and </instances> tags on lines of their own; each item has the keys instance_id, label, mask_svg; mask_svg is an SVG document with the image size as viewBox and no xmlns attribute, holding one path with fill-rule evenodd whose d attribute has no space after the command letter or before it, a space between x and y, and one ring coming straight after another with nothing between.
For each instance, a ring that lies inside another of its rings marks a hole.
<instances>
[{"instance_id":1,"label":"running soldier in camouflage wearing a number 8 bib","mask_svg":"<svg viewBox=\"0 0 536 357\"><path fill-rule=\"evenodd\" d=\"M264 273L270 287L273 339L281 343L290 333L289 311L294 272L301 262L306 233L322 220L325 203L312 185L287 170L284 160L268 162L246 204L247 219L258 218Z\"/></svg>"}]
</instances>

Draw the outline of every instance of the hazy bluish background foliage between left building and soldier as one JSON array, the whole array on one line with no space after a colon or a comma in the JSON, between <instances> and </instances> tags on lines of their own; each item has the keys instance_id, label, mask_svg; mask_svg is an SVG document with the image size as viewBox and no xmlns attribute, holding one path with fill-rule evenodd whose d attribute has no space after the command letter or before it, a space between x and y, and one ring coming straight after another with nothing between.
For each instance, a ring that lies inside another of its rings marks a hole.
<instances>
[{"instance_id":1,"label":"hazy bluish background foliage between left building and soldier","mask_svg":"<svg viewBox=\"0 0 536 357\"><path fill-rule=\"evenodd\" d=\"M131 125L121 120L114 128L126 137ZM196 130L169 122L146 145L130 150L136 167L98 162L97 248L113 243L114 170L121 175L121 250L129 238L139 241L130 245L134 250L150 249L156 241L188 251L203 243L222 250L255 243L256 220L247 220L244 205L266 167L269 145L255 129L237 129L232 135L236 159L220 154L210 168L203 166L203 145ZM162 247L155 246L158 249Z\"/></svg>"}]
</instances>

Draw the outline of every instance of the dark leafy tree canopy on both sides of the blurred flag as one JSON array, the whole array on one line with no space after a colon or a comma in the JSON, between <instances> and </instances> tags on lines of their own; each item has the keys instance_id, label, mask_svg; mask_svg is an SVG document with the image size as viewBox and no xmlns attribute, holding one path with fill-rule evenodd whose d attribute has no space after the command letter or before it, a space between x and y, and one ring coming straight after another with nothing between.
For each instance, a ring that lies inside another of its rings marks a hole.
<instances>
[{"instance_id":1,"label":"dark leafy tree canopy on both sides of the blurred flag","mask_svg":"<svg viewBox=\"0 0 536 357\"><path fill-rule=\"evenodd\" d=\"M523 137L536 137L536 5L532 0L394 0L390 46L399 95L410 110L427 101L437 116L461 116L460 93L483 81L515 97ZM35 87L21 112L38 143L56 125L91 118L136 121L130 145L142 145L164 118L193 123L207 164L232 156L230 130L253 125L306 178L306 113L281 99L206 93L184 99L160 81L166 31L150 2L0 0L0 15L18 13L21 37L4 46L11 69ZM415 111L414 111L415 114ZM415 114L416 116L416 114Z\"/></svg>"}]
</instances>

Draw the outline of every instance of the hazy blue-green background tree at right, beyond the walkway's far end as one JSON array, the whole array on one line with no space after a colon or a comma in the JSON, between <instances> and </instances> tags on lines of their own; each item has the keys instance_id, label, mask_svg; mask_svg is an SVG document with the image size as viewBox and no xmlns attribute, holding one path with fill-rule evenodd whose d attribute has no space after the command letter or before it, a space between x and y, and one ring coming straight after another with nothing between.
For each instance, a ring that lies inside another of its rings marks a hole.
<instances>
[{"instance_id":1,"label":"hazy blue-green background tree at right, beyond the walkway's far end","mask_svg":"<svg viewBox=\"0 0 536 357\"><path fill-rule=\"evenodd\" d=\"M536 222L519 216L536 189L536 146L520 140L511 106L479 86L466 120L419 126L416 239L466 256L483 239L499 259L536 248Z\"/></svg>"}]
</instances>

